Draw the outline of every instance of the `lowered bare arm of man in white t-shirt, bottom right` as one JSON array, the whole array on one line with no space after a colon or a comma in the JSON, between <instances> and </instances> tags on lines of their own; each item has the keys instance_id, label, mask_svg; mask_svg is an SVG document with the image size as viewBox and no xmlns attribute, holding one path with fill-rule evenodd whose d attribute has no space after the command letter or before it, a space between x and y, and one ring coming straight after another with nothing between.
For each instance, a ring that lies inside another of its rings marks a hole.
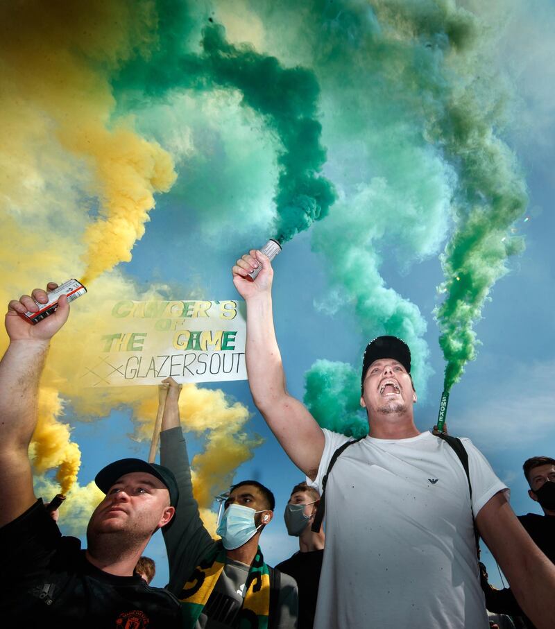
<instances>
[{"instance_id":1,"label":"lowered bare arm of man in white t-shirt, bottom right","mask_svg":"<svg viewBox=\"0 0 555 629\"><path fill-rule=\"evenodd\" d=\"M476 524L522 611L538 629L555 627L555 565L518 522L502 492L481 508Z\"/></svg>"}]
</instances>

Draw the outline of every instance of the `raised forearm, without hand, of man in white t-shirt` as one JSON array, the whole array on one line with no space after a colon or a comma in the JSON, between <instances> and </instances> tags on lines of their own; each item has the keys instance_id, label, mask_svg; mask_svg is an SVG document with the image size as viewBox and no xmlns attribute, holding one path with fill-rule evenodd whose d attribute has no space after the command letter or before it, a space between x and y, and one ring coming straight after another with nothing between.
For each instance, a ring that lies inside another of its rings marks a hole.
<instances>
[{"instance_id":1,"label":"raised forearm, without hand, of man in white t-shirt","mask_svg":"<svg viewBox=\"0 0 555 629\"><path fill-rule=\"evenodd\" d=\"M273 325L271 295L247 302L246 365L248 384L260 411L286 395L285 374Z\"/></svg>"}]
</instances>

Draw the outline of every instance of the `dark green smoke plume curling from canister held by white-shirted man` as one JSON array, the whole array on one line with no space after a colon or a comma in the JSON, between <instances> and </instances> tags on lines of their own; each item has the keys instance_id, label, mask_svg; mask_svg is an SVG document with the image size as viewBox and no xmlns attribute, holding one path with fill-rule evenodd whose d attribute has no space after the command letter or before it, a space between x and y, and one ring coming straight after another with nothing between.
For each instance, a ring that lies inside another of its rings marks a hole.
<instances>
[{"instance_id":1,"label":"dark green smoke plume curling from canister held by white-shirted man","mask_svg":"<svg viewBox=\"0 0 555 629\"><path fill-rule=\"evenodd\" d=\"M205 55L199 68L203 85L239 89L244 103L264 117L283 144L275 235L287 241L326 216L335 200L331 182L317 174L326 158L316 120L318 83L306 69L287 69L248 45L228 44L222 26L207 27L203 35ZM186 71L189 67L185 62Z\"/></svg>"}]
</instances>

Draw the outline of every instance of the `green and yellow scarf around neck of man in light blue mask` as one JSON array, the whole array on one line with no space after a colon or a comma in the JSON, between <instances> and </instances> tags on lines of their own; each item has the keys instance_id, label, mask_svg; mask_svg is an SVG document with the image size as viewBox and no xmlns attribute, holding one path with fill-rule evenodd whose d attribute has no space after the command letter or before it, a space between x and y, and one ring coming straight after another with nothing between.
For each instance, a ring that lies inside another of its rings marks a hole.
<instances>
[{"instance_id":1,"label":"green and yellow scarf around neck of man in light blue mask","mask_svg":"<svg viewBox=\"0 0 555 629\"><path fill-rule=\"evenodd\" d=\"M225 566L225 549L220 544L214 553L196 567L181 592L181 611L185 629L194 629L212 590ZM268 629L270 612L270 572L260 547L246 580L243 607L234 623L238 629Z\"/></svg>"}]
</instances>

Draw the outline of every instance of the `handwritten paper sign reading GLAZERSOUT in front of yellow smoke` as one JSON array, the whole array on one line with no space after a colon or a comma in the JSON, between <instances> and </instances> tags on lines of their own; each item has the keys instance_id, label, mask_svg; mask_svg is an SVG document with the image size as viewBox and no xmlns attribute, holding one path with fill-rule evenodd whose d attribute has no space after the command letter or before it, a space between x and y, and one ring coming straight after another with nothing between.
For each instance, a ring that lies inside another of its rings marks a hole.
<instances>
[{"instance_id":1,"label":"handwritten paper sign reading GLAZERSOUT in front of yellow smoke","mask_svg":"<svg viewBox=\"0 0 555 629\"><path fill-rule=\"evenodd\" d=\"M108 329L88 344L85 386L247 378L242 301L115 302Z\"/></svg>"}]
</instances>

